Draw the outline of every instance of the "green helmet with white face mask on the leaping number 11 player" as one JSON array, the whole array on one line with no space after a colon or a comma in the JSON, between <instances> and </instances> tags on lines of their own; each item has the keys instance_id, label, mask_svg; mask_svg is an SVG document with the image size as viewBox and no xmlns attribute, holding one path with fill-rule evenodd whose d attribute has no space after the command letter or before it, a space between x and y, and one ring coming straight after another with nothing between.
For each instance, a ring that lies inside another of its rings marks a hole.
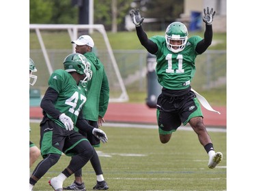
<instances>
[{"instance_id":1,"label":"green helmet with white face mask on the leaping number 11 player","mask_svg":"<svg viewBox=\"0 0 256 191\"><path fill-rule=\"evenodd\" d=\"M184 50L186 41L188 41L188 29L182 22L172 22L165 31L165 40L167 48L171 52L177 53ZM182 41L182 44L171 44L171 41Z\"/></svg>"}]
</instances>

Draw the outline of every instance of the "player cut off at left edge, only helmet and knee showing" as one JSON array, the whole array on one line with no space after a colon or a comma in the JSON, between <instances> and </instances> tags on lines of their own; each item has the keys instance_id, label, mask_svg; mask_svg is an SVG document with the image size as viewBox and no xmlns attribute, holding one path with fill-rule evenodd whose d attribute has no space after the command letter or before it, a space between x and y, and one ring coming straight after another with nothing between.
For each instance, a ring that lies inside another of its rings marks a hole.
<instances>
[{"instance_id":1,"label":"player cut off at left edge, only helmet and knee showing","mask_svg":"<svg viewBox=\"0 0 256 191\"><path fill-rule=\"evenodd\" d=\"M29 58L29 84L33 86L38 79L37 75L34 75L33 72L38 71L35 68L35 63L31 58ZM38 160L40 156L40 149L31 141L29 141L29 168L33 165L35 160Z\"/></svg>"}]
</instances>

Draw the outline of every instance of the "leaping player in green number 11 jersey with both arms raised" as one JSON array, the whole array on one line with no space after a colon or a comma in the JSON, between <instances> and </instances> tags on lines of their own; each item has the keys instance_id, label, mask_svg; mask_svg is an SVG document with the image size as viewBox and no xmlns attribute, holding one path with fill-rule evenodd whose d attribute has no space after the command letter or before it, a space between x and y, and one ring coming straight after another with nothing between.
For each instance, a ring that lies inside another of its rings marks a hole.
<instances>
[{"instance_id":1,"label":"leaping player in green number 11 jersey with both arms raised","mask_svg":"<svg viewBox=\"0 0 256 191\"><path fill-rule=\"evenodd\" d=\"M204 38L188 38L188 30L182 22L172 22L166 29L165 36L150 39L143 30L144 20L138 9L132 10L130 16L135 24L141 45L151 54L156 55L156 74L162 86L157 101L158 132L161 143L167 143L173 132L183 123L193 128L201 145L208 153L208 167L214 169L221 162L223 154L215 152L212 140L203 124L203 114L190 82L195 75L195 58L203 54L212 43L213 9L204 9Z\"/></svg>"}]
</instances>

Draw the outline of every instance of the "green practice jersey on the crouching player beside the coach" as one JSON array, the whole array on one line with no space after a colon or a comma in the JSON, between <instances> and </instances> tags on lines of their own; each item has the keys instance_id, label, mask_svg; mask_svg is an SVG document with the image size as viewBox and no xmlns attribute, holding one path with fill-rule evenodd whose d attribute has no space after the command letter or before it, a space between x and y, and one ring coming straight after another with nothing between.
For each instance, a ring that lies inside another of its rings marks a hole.
<instances>
[{"instance_id":1,"label":"green practice jersey on the crouching player beside the coach","mask_svg":"<svg viewBox=\"0 0 256 191\"><path fill-rule=\"evenodd\" d=\"M63 69L54 71L48 80L49 87L55 89L59 93L59 97L55 101L55 108L62 114L69 116L74 124L79 116L83 105L86 101L85 88L76 85L76 81ZM55 120L47 114L54 122L65 128L60 120Z\"/></svg>"}]
</instances>

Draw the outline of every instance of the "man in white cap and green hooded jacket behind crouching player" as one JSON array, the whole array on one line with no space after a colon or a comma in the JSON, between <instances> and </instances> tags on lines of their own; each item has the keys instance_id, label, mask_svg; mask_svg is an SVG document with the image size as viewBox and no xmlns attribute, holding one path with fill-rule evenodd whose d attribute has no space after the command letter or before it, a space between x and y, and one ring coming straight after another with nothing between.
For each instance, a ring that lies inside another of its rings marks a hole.
<instances>
[{"instance_id":1,"label":"man in white cap and green hooded jacket behind crouching player","mask_svg":"<svg viewBox=\"0 0 256 191\"><path fill-rule=\"evenodd\" d=\"M83 54L91 64L91 71L94 74L91 80L87 83L87 101L83 107L83 115L87 122L98 128L104 122L104 115L109 105L109 81L106 77L104 65L96 56L92 49L94 48L94 40L89 35L81 35L78 39L71 42L76 44L76 53ZM100 147L100 140L89 133L79 130L79 133L87 137L93 147ZM97 152L91 157L91 166L96 173L96 185L94 190L107 190L109 186L104 180L102 167L100 165L100 158ZM63 190L85 190L85 184L82 179L82 169L74 173L74 182L63 188Z\"/></svg>"}]
</instances>

